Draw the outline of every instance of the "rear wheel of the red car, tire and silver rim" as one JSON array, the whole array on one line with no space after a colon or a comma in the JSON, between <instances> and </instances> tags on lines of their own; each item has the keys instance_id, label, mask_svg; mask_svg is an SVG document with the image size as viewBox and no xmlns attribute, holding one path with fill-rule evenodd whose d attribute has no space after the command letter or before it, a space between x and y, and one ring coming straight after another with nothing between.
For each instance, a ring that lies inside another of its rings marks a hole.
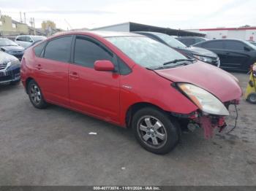
<instances>
[{"instance_id":1,"label":"rear wheel of the red car, tire and silver rim","mask_svg":"<svg viewBox=\"0 0 256 191\"><path fill-rule=\"evenodd\" d=\"M33 79L29 81L28 94L31 104L37 109L45 109L48 106L39 85Z\"/></svg>"}]
</instances>

